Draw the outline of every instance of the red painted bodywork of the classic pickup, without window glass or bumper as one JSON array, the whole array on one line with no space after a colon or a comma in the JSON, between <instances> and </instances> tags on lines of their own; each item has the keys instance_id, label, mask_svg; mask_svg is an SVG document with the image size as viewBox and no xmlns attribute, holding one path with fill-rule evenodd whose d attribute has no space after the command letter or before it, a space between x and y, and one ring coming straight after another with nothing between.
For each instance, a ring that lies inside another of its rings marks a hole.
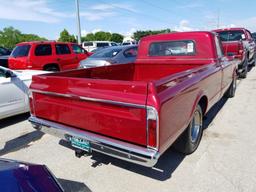
<instances>
[{"instance_id":1,"label":"red painted bodywork of the classic pickup, without window glass or bumper","mask_svg":"<svg viewBox=\"0 0 256 192\"><path fill-rule=\"evenodd\" d=\"M148 56L152 42L172 40L193 40L196 54ZM151 106L159 116L162 153L185 130L200 98L207 98L208 111L233 80L237 61L218 58L215 40L211 32L155 35L140 41L135 63L34 76L33 115L146 147L146 107Z\"/></svg>"}]
</instances>

